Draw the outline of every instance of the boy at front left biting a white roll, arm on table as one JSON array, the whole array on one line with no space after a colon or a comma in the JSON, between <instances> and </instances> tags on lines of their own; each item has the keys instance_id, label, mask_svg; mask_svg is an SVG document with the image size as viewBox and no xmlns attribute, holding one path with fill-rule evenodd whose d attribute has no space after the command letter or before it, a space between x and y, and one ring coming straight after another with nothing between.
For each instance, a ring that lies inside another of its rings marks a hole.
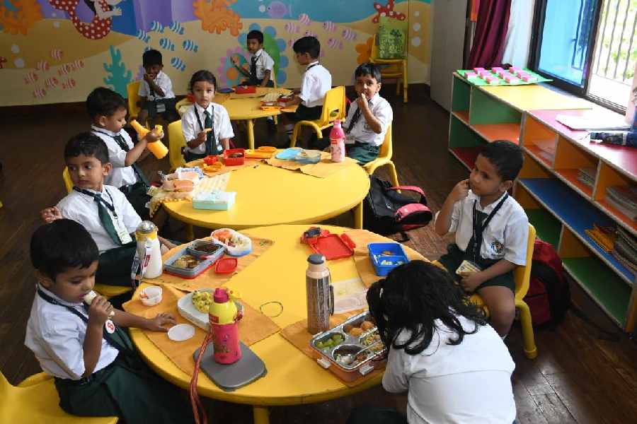
<instances>
[{"instance_id":1,"label":"boy at front left biting a white roll, arm on table","mask_svg":"<svg viewBox=\"0 0 637 424\"><path fill-rule=\"evenodd\" d=\"M167 331L175 318L144 318L115 310L101 296L84 303L95 285L98 247L81 224L59 219L31 237L38 278L25 345L55 377L59 406L76 416L117 416L127 423L192 422L176 387L139 358L120 327Z\"/></svg>"}]
</instances>

